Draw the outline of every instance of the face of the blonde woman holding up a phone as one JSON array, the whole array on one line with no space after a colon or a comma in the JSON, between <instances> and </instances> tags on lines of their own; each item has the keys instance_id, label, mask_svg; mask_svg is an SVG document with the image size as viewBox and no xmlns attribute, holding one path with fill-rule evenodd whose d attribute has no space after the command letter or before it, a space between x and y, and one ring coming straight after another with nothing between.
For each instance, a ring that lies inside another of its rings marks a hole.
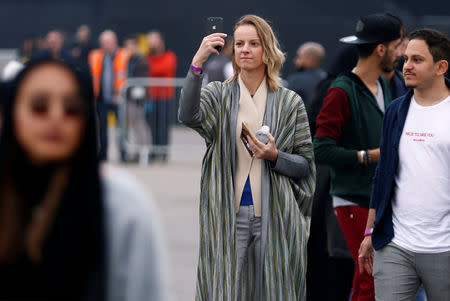
<instances>
[{"instance_id":1,"label":"face of the blonde woman holding up a phone","mask_svg":"<svg viewBox=\"0 0 450 301\"><path fill-rule=\"evenodd\" d=\"M263 47L255 26L241 25L234 32L234 56L243 71L264 71Z\"/></svg>"}]
</instances>

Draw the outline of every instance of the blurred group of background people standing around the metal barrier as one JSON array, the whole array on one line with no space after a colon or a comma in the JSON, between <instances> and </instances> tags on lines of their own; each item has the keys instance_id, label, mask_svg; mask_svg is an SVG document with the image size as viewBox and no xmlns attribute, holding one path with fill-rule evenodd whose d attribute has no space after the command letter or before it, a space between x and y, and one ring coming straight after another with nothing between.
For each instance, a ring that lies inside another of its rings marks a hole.
<instances>
[{"instance_id":1,"label":"blurred group of background people standing around the metal barrier","mask_svg":"<svg viewBox=\"0 0 450 301\"><path fill-rule=\"evenodd\" d=\"M163 34L152 30L145 40L147 51L143 53L139 35L125 37L122 46L114 31L105 30L99 35L99 47L95 48L97 43L91 39L90 28L81 25L71 43L66 42L62 31L51 30L44 38L27 37L22 45L22 63L52 57L90 71L97 100L100 158L103 161L108 159L108 116L113 114L116 121L120 120L119 102L127 78L175 77L177 57L173 51L166 49ZM170 85L126 88L127 114L113 143L117 145L121 161L137 160L136 153L127 152L125 143L130 142L151 145L148 159L167 162L175 88ZM132 126L127 127L129 124Z\"/></svg>"}]
</instances>

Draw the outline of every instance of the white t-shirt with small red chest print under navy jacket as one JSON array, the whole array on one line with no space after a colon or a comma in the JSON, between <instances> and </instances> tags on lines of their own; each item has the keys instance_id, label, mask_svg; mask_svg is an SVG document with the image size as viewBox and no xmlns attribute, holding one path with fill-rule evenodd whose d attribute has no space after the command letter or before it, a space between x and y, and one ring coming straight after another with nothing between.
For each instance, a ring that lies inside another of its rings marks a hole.
<instances>
[{"instance_id":1,"label":"white t-shirt with small red chest print under navy jacket","mask_svg":"<svg viewBox=\"0 0 450 301\"><path fill-rule=\"evenodd\" d=\"M450 250L450 96L434 106L414 97L399 145L393 242L417 253Z\"/></svg>"}]
</instances>

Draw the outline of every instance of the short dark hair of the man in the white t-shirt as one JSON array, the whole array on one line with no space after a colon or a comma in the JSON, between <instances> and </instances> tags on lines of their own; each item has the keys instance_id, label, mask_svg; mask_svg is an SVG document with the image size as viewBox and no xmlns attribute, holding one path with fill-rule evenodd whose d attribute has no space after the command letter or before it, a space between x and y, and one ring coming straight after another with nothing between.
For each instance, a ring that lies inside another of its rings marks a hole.
<instances>
[{"instance_id":1,"label":"short dark hair of the man in the white t-shirt","mask_svg":"<svg viewBox=\"0 0 450 301\"><path fill-rule=\"evenodd\" d=\"M431 28L414 30L409 34L410 40L422 40L428 45L433 61L445 60L450 63L450 40L442 32Z\"/></svg>"}]
</instances>

